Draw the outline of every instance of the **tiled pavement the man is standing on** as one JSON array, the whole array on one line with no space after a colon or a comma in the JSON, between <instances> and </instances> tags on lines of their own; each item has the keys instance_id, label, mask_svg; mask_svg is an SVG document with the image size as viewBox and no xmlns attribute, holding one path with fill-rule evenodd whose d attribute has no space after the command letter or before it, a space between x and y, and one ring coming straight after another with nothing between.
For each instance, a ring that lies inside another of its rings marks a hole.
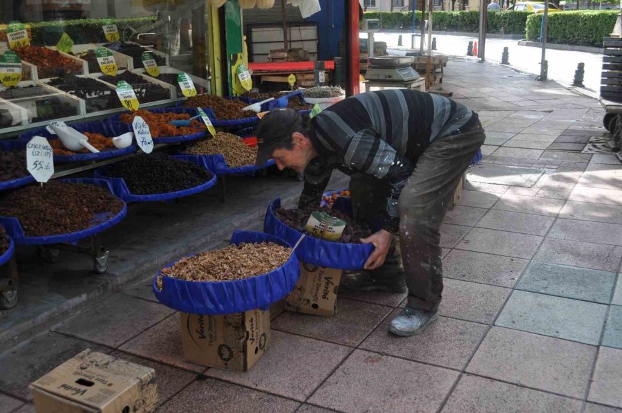
<instances>
[{"instance_id":1,"label":"tiled pavement the man is standing on","mask_svg":"<svg viewBox=\"0 0 622 413\"><path fill-rule=\"evenodd\" d=\"M85 347L154 367L163 412L622 413L622 166L580 153L603 111L501 66L451 61L444 82L487 156L445 219L420 336L386 332L403 295L344 291L334 318L274 311L246 374L205 369L147 279L0 355L0 413L32 411L28 383Z\"/></svg>"}]
</instances>

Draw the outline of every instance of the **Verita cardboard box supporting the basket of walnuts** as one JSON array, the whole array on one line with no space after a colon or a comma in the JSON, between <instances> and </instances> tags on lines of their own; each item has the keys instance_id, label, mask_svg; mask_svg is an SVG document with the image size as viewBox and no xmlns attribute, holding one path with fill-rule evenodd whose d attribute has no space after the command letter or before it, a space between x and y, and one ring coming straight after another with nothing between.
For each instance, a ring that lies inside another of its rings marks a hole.
<instances>
[{"instance_id":1,"label":"Verita cardboard box supporting the basket of walnuts","mask_svg":"<svg viewBox=\"0 0 622 413\"><path fill-rule=\"evenodd\" d=\"M270 345L270 310L227 315L180 313L185 360L247 371Z\"/></svg>"}]
</instances>

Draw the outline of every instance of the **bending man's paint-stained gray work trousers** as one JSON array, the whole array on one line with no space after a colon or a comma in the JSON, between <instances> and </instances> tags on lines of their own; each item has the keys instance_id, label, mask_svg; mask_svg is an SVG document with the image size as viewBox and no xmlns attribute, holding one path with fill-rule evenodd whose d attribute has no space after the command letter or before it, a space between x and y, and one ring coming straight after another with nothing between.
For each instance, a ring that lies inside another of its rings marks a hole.
<instances>
[{"instance_id":1,"label":"bending man's paint-stained gray work trousers","mask_svg":"<svg viewBox=\"0 0 622 413\"><path fill-rule=\"evenodd\" d=\"M478 122L469 131L433 140L417 159L415 171L399 196L399 255L406 274L409 307L435 310L440 304L443 291L440 226L462 174L471 165L484 138L484 129ZM386 208L388 182L354 174L350 179L350 194L355 218L377 228ZM386 264L374 271L376 278L402 275L395 270L399 266L399 259L395 259L397 253L395 246L390 248ZM385 282L391 284L388 279Z\"/></svg>"}]
</instances>

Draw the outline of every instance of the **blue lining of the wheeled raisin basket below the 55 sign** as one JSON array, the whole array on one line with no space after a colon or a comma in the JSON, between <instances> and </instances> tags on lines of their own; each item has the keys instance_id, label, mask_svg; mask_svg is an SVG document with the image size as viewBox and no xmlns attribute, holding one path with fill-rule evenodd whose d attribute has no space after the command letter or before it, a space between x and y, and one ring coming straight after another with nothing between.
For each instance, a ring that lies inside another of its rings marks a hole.
<instances>
[{"instance_id":1,"label":"blue lining of the wheeled raisin basket below the 55 sign","mask_svg":"<svg viewBox=\"0 0 622 413\"><path fill-rule=\"evenodd\" d=\"M112 192L110 183L104 179L70 178L59 179L59 182L88 183ZM126 203L123 203L123 207L120 212L117 212L114 216L111 216L111 213L97 214L95 220L93 221L93 226L86 228L85 230L59 235L44 235L42 237L27 237L24 235L21 223L19 223L19 219L15 217L0 216L0 224L4 227L4 229L6 229L7 234L12 237L13 241L15 241L18 245L59 244L62 242L75 244L80 239L91 237L92 235L98 234L108 228L111 228L112 226L115 226L117 223L121 222L126 214L127 205Z\"/></svg>"}]
</instances>

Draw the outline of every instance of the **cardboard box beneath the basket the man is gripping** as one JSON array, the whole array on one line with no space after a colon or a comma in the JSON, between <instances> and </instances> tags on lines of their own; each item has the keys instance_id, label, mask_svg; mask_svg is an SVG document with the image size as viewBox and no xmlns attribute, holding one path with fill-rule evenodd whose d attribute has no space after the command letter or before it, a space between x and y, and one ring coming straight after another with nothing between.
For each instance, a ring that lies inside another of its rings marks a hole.
<instances>
[{"instance_id":1,"label":"cardboard box beneath the basket the man is gripping","mask_svg":"<svg viewBox=\"0 0 622 413\"><path fill-rule=\"evenodd\" d=\"M335 313L342 270L300 264L300 278L285 297L285 305L297 313L331 317Z\"/></svg>"}]
</instances>

